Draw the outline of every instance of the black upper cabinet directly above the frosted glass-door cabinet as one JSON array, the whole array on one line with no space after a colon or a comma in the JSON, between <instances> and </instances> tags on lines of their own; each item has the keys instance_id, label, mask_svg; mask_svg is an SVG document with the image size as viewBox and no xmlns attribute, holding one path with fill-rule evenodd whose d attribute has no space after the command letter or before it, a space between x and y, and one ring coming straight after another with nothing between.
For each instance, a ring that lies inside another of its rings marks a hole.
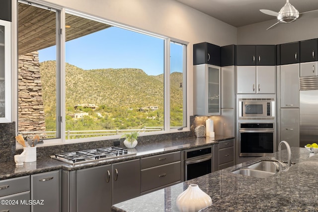
<instances>
[{"instance_id":1,"label":"black upper cabinet directly above the frosted glass-door cabinet","mask_svg":"<svg viewBox=\"0 0 318 212\"><path fill-rule=\"evenodd\" d=\"M220 47L207 42L193 45L193 65L220 66Z\"/></svg>"}]
</instances>

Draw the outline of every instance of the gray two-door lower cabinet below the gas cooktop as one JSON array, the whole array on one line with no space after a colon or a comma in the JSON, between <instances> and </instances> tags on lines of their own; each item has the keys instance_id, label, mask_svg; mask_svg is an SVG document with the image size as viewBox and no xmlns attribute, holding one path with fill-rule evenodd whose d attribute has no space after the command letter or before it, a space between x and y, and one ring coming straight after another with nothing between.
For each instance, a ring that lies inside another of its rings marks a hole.
<instances>
[{"instance_id":1,"label":"gray two-door lower cabinet below the gas cooktop","mask_svg":"<svg viewBox=\"0 0 318 212\"><path fill-rule=\"evenodd\" d=\"M77 171L77 212L110 212L113 204L140 196L140 160Z\"/></svg>"}]
</instances>

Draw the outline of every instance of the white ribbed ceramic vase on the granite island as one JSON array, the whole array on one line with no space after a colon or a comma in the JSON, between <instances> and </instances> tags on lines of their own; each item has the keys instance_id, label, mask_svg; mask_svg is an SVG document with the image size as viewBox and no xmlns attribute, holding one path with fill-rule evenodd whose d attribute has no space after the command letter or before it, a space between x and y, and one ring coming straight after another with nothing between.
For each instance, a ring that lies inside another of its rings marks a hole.
<instances>
[{"instance_id":1,"label":"white ribbed ceramic vase on the granite island","mask_svg":"<svg viewBox=\"0 0 318 212\"><path fill-rule=\"evenodd\" d=\"M180 212L198 212L205 207L211 206L212 199L198 185L190 184L185 191L179 194L176 205Z\"/></svg>"}]
</instances>

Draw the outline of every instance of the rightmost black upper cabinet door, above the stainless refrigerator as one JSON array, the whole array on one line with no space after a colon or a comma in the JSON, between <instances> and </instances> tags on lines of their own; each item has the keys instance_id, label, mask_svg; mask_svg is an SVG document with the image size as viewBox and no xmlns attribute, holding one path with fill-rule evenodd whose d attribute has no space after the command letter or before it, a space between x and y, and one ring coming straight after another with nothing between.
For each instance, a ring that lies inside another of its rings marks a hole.
<instances>
[{"instance_id":1,"label":"rightmost black upper cabinet door, above the stainless refrigerator","mask_svg":"<svg viewBox=\"0 0 318 212\"><path fill-rule=\"evenodd\" d=\"M300 42L300 62L317 61L317 39Z\"/></svg>"}]
</instances>

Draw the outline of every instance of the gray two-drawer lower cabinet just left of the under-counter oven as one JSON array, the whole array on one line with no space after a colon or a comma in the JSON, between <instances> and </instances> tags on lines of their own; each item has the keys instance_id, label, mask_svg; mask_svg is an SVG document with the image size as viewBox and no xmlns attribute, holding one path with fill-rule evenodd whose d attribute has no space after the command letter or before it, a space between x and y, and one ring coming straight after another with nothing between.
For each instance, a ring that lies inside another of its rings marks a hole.
<instances>
[{"instance_id":1,"label":"gray two-drawer lower cabinet just left of the under-counter oven","mask_svg":"<svg viewBox=\"0 0 318 212\"><path fill-rule=\"evenodd\" d=\"M145 157L140 163L142 194L181 182L180 151Z\"/></svg>"}]
</instances>

